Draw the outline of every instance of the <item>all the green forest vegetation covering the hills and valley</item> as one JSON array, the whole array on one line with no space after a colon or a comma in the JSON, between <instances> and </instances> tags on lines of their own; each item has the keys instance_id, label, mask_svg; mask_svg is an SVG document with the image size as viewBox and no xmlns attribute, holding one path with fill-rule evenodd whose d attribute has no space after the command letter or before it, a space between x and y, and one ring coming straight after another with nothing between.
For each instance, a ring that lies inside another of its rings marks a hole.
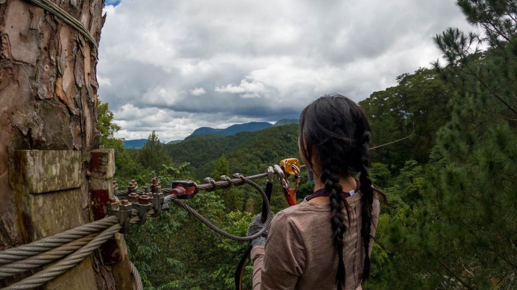
<instances>
[{"instance_id":1,"label":"all the green forest vegetation covering the hills and valley","mask_svg":"<svg viewBox=\"0 0 517 290\"><path fill-rule=\"evenodd\" d=\"M387 202L365 289L517 288L517 1L459 0L480 35L449 28L434 38L445 61L397 77L360 102L372 126L374 185ZM480 49L483 47L483 50ZM196 135L162 144L155 132L125 150L108 104L101 143L116 152L116 176L163 186L175 179L255 174L299 157L297 125L234 136ZM302 174L298 198L310 192ZM259 181L264 183L265 181ZM260 211L249 187L201 192L190 204L221 228L245 235ZM273 212L287 206L275 185ZM126 235L147 289L232 289L247 245L207 230L173 208ZM245 288L251 288L251 263Z\"/></svg>"}]
</instances>

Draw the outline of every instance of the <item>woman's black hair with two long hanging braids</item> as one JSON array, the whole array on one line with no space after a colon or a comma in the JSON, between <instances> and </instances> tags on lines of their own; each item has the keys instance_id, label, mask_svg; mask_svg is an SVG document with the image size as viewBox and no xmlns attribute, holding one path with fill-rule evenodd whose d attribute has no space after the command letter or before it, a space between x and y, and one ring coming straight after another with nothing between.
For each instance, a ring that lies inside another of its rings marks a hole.
<instances>
[{"instance_id":1,"label":"woman's black hair with two long hanging braids","mask_svg":"<svg viewBox=\"0 0 517 290\"><path fill-rule=\"evenodd\" d=\"M364 246L362 279L370 275L370 228L373 203L372 181L368 175L370 125L362 109L352 100L339 95L324 95L305 107L300 115L300 148L312 167L313 150L320 165L320 180L329 192L332 241L338 252L336 284L345 285L343 235L346 232L343 208L350 221L349 206L342 197L340 176L355 176L360 172L361 237Z\"/></svg>"}]
</instances>

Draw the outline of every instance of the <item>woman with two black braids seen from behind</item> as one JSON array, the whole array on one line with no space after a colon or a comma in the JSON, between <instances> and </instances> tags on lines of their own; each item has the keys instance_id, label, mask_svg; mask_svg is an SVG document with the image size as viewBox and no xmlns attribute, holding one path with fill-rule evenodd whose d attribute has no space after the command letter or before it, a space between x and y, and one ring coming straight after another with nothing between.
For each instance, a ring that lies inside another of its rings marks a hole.
<instances>
[{"instance_id":1,"label":"woman with two black braids seen from behind","mask_svg":"<svg viewBox=\"0 0 517 290\"><path fill-rule=\"evenodd\" d=\"M252 241L253 289L361 289L379 215L368 177L369 141L364 112L342 95L303 109L298 143L314 171L314 193L276 214L269 236ZM248 234L261 228L258 215Z\"/></svg>"}]
</instances>

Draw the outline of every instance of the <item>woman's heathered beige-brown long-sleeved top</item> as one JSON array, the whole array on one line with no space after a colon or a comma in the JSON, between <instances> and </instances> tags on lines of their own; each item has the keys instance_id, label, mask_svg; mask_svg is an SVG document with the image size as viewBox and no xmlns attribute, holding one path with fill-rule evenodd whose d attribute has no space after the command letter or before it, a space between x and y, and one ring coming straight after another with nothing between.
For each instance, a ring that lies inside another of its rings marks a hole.
<instances>
[{"instance_id":1,"label":"woman's heathered beige-brown long-sleeved top","mask_svg":"<svg viewBox=\"0 0 517 290\"><path fill-rule=\"evenodd\" d=\"M345 210L345 290L362 289L364 246L361 238L361 192L346 198L351 221ZM375 235L379 200L375 196L371 235ZM373 238L370 240L370 254ZM332 244L330 204L304 200L276 214L264 246L251 251L253 290L336 289L338 253Z\"/></svg>"}]
</instances>

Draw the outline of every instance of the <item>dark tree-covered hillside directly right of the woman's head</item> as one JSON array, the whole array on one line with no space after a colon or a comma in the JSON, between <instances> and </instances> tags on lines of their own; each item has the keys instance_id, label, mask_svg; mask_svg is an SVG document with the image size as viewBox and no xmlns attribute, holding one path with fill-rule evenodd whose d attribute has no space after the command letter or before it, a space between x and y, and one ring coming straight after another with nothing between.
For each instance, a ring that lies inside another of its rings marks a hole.
<instances>
[{"instance_id":1,"label":"dark tree-covered hillside directly right of the woman's head","mask_svg":"<svg viewBox=\"0 0 517 290\"><path fill-rule=\"evenodd\" d=\"M396 172L408 159L427 162L436 144L436 130L449 120L448 88L429 69L397 77L398 85L374 92L359 102L369 117L372 147L414 134L397 143L370 151L376 162L388 164ZM415 150L418 148L418 150Z\"/></svg>"}]
</instances>

